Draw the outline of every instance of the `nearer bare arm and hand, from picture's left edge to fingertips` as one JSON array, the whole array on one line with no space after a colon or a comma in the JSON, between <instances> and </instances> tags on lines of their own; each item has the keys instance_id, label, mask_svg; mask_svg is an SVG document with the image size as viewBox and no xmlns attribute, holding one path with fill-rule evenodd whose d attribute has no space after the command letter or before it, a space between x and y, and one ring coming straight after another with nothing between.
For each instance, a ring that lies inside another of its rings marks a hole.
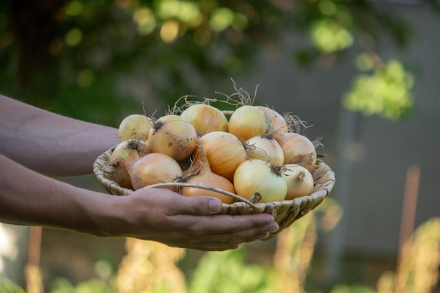
<instances>
[{"instance_id":1,"label":"nearer bare arm and hand, from picture's left edge to fingertips","mask_svg":"<svg viewBox=\"0 0 440 293\"><path fill-rule=\"evenodd\" d=\"M0 155L0 221L137 237L173 247L234 249L278 229L269 214L218 215L221 203L162 188L112 196L48 178Z\"/></svg>"}]
</instances>

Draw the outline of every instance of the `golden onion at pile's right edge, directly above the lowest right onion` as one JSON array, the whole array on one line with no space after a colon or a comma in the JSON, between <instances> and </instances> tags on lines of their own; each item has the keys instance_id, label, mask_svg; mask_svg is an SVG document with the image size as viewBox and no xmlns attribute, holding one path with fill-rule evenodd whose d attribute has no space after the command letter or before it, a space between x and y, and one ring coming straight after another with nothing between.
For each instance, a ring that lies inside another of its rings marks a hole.
<instances>
[{"instance_id":1,"label":"golden onion at pile's right edge, directly above the lowest right onion","mask_svg":"<svg viewBox=\"0 0 440 293\"><path fill-rule=\"evenodd\" d=\"M276 136L275 139L283 149L284 164L298 164L309 172L313 171L316 164L316 149L309 138L287 132L282 136Z\"/></svg>"}]
</instances>

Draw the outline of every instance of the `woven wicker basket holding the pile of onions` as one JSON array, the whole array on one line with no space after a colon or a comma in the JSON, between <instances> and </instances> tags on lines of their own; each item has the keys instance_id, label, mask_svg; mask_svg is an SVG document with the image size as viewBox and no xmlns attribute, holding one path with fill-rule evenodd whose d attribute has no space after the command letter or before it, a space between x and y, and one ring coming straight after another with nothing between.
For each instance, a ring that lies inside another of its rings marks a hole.
<instances>
[{"instance_id":1,"label":"woven wicker basket holding the pile of onions","mask_svg":"<svg viewBox=\"0 0 440 293\"><path fill-rule=\"evenodd\" d=\"M119 186L115 181L112 181L111 174L105 171L105 167L108 166L108 163L110 162L111 155L112 149L104 152L96 158L96 161L93 164L93 172L96 175L96 178L98 178L98 181L101 182L111 195L130 195L133 193L133 190ZM317 159L316 167L311 174L315 181L315 186L311 195L298 197L294 200L257 204L252 204L251 202L242 199L242 201L234 202L233 204L223 204L223 209L220 214L273 214L280 229L267 238L270 239L284 228L290 226L294 221L306 215L312 209L315 209L332 191L332 188L335 185L335 173L324 163L323 159Z\"/></svg>"}]
</instances>

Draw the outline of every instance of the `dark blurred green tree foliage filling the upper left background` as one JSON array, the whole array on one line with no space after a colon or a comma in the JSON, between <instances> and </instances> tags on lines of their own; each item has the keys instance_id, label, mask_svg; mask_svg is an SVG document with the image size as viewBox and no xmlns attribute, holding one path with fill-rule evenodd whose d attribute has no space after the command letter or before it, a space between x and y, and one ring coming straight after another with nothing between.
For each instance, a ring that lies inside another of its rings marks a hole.
<instances>
[{"instance_id":1,"label":"dark blurred green tree foliage filling the upper left background","mask_svg":"<svg viewBox=\"0 0 440 293\"><path fill-rule=\"evenodd\" d=\"M255 70L264 46L282 44L286 34L309 38L292 52L306 65L386 33L406 45L414 32L386 6L366 0L4 0L0 91L117 125L143 112L142 102L151 114L186 94L213 93L219 81ZM412 107L408 102L404 108Z\"/></svg>"}]
</instances>

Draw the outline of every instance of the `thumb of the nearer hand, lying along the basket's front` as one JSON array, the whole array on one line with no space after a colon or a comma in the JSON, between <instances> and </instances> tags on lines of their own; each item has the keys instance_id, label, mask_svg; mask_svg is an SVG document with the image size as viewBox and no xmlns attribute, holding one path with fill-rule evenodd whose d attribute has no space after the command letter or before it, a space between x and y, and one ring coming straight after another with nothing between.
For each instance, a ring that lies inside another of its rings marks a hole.
<instances>
[{"instance_id":1,"label":"thumb of the nearer hand, lying along the basket's front","mask_svg":"<svg viewBox=\"0 0 440 293\"><path fill-rule=\"evenodd\" d=\"M212 215L221 211L221 200L208 196L182 197L181 204L176 207L179 214Z\"/></svg>"}]
</instances>

